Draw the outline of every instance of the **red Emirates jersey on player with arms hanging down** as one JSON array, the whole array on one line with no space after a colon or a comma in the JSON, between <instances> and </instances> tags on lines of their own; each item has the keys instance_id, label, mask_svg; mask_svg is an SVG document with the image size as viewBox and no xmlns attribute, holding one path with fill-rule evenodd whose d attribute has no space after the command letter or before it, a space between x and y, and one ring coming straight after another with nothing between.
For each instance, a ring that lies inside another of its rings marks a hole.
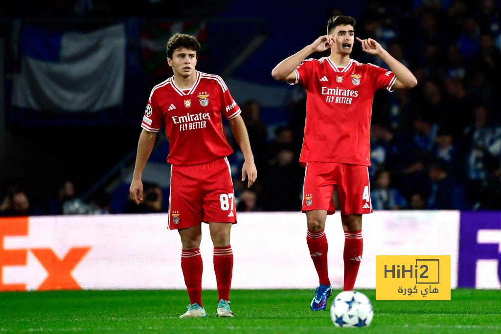
<instances>
[{"instance_id":1,"label":"red Emirates jersey on player with arms hanging down","mask_svg":"<svg viewBox=\"0 0 501 334\"><path fill-rule=\"evenodd\" d=\"M165 123L170 148L167 162L175 166L199 165L233 153L221 114L240 115L240 108L219 76L196 71L196 82L181 90L174 76L151 90L141 127L158 132Z\"/></svg>"}]
</instances>

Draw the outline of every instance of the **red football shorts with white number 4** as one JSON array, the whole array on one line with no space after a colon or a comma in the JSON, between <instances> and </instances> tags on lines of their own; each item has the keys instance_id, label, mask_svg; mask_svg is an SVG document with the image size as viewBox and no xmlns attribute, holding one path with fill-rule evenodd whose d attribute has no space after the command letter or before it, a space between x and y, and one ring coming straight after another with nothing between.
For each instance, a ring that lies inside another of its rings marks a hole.
<instances>
[{"instance_id":1,"label":"red football shorts with white number 4","mask_svg":"<svg viewBox=\"0 0 501 334\"><path fill-rule=\"evenodd\" d=\"M303 212L320 209L333 214L334 187L342 215L372 212L368 167L334 162L306 163Z\"/></svg>"}]
</instances>

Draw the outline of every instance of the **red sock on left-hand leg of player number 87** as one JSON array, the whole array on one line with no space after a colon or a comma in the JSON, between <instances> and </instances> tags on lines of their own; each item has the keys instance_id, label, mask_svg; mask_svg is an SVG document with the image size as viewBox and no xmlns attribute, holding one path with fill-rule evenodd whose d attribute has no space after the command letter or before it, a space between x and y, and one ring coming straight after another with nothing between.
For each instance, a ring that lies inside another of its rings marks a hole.
<instances>
[{"instance_id":1,"label":"red sock on left-hand leg of player number 87","mask_svg":"<svg viewBox=\"0 0 501 334\"><path fill-rule=\"evenodd\" d=\"M202 256L200 248L181 250L181 269L188 289L190 304L202 306ZM203 307L203 306L202 306Z\"/></svg>"}]
</instances>

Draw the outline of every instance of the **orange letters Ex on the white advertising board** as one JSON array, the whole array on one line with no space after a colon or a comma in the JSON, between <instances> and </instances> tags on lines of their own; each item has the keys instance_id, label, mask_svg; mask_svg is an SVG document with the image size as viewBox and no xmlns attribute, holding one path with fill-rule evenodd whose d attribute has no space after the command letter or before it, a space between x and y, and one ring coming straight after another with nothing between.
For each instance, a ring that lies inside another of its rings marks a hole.
<instances>
[{"instance_id":1,"label":"orange letters Ex on the white advertising board","mask_svg":"<svg viewBox=\"0 0 501 334\"><path fill-rule=\"evenodd\" d=\"M8 237L28 236L29 218L0 219L0 291L26 290L26 283L6 283L6 267L27 266L28 256L33 254L46 271L47 277L37 290L81 289L72 276L72 271L87 255L91 247L72 247L63 256L58 256L52 248L34 247L7 249L5 240Z\"/></svg>"}]
</instances>

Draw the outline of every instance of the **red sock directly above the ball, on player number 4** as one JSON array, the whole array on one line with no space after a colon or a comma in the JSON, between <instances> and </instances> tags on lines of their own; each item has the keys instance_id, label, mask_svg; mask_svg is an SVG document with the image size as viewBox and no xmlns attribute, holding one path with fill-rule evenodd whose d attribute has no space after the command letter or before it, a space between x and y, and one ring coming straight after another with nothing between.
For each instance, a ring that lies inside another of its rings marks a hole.
<instances>
[{"instance_id":1,"label":"red sock directly above the ball, on player number 4","mask_svg":"<svg viewBox=\"0 0 501 334\"><path fill-rule=\"evenodd\" d=\"M343 253L345 276L343 291L353 290L355 286L358 268L362 260L363 246L362 230L353 232L345 231L345 249Z\"/></svg>"}]
</instances>

